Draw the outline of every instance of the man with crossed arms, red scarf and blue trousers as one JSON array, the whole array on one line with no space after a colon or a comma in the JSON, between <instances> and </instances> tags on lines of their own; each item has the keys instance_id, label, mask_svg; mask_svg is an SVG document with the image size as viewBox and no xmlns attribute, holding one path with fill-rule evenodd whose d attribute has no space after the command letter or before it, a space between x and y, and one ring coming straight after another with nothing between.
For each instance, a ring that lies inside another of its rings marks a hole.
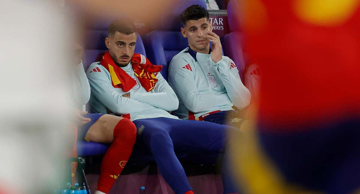
<instances>
[{"instance_id":1,"label":"man with crossed arms, red scarf and blue trousers","mask_svg":"<svg viewBox=\"0 0 360 194\"><path fill-rule=\"evenodd\" d=\"M224 152L224 193L236 193L228 167L228 130L236 128L209 122L184 121L169 112L177 109L175 92L162 77L161 65L152 65L134 53L137 33L129 20L109 26L105 44L109 49L99 62L90 65L90 104L99 113L127 117L136 125L136 144L151 153L176 194L193 194L185 171L174 151L182 153Z\"/></svg>"}]
</instances>

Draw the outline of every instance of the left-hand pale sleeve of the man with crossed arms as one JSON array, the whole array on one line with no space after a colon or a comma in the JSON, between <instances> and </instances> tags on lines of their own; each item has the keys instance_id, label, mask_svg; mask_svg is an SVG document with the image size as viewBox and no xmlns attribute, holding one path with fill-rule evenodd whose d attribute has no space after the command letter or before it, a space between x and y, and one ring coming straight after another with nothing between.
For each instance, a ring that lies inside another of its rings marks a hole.
<instances>
[{"instance_id":1,"label":"left-hand pale sleeve of the man with crossed arms","mask_svg":"<svg viewBox=\"0 0 360 194\"><path fill-rule=\"evenodd\" d=\"M125 115L133 112L149 110L153 106L143 102L123 97L111 84L111 80L104 72L87 73L91 94L105 107L115 114Z\"/></svg>"}]
</instances>

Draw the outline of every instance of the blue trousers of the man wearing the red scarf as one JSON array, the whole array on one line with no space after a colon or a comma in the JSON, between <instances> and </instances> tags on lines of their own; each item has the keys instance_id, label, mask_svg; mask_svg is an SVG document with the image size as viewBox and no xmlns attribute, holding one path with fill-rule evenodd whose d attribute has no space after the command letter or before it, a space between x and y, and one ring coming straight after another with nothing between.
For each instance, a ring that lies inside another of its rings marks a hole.
<instances>
[{"instance_id":1,"label":"blue trousers of the man wearing the red scarf","mask_svg":"<svg viewBox=\"0 0 360 194\"><path fill-rule=\"evenodd\" d=\"M221 174L224 193L237 192L231 180L228 165L230 145L226 138L228 130L237 130L236 128L164 117L138 119L133 122L138 130L136 142L150 149L162 176L176 194L184 194L192 188L174 150L183 153L224 152Z\"/></svg>"}]
</instances>

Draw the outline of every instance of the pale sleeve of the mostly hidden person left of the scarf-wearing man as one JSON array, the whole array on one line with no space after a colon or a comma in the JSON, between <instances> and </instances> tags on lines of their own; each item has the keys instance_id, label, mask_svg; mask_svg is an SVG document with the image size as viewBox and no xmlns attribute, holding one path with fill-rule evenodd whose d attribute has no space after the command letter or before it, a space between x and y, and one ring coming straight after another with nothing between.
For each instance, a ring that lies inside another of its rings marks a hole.
<instances>
[{"instance_id":1,"label":"pale sleeve of the mostly hidden person left of the scarf-wearing man","mask_svg":"<svg viewBox=\"0 0 360 194\"><path fill-rule=\"evenodd\" d=\"M82 61L73 69L73 96L77 103L85 105L90 99L90 85Z\"/></svg>"}]
</instances>

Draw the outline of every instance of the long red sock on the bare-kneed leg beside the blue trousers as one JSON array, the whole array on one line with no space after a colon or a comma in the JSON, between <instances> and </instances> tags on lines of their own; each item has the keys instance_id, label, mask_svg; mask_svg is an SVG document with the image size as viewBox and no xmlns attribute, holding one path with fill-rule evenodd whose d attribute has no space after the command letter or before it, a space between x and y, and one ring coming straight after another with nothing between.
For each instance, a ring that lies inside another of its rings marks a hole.
<instances>
[{"instance_id":1,"label":"long red sock on the bare-kneed leg beside the blue trousers","mask_svg":"<svg viewBox=\"0 0 360 194\"><path fill-rule=\"evenodd\" d=\"M131 155L135 140L135 124L129 119L121 119L114 128L114 141L101 163L97 190L109 193Z\"/></svg>"}]
</instances>

